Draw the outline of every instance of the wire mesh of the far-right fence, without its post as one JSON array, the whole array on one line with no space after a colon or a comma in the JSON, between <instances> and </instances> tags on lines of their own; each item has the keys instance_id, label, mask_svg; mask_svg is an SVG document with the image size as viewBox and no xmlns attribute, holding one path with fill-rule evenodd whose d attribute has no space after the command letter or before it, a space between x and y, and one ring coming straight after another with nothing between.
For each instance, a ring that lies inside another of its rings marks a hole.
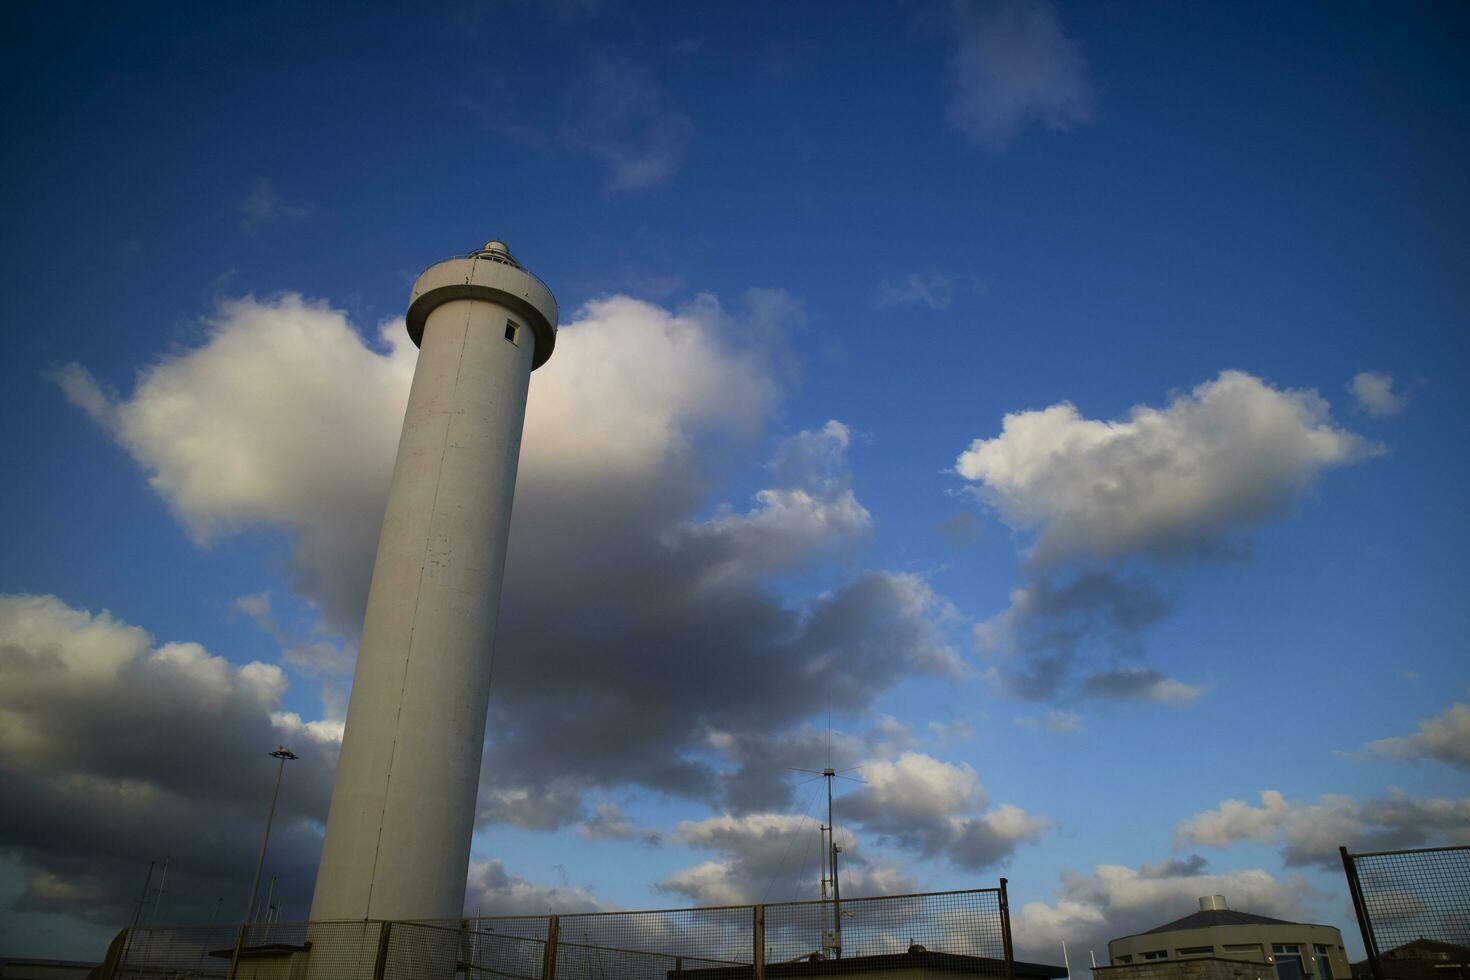
<instances>
[{"instance_id":1,"label":"wire mesh of the far-right fence, without its post","mask_svg":"<svg viewBox=\"0 0 1470 980\"><path fill-rule=\"evenodd\" d=\"M1347 855L1372 946L1383 958L1426 940L1470 948L1470 846ZM1351 882L1349 882L1351 884Z\"/></svg>"}]
</instances>

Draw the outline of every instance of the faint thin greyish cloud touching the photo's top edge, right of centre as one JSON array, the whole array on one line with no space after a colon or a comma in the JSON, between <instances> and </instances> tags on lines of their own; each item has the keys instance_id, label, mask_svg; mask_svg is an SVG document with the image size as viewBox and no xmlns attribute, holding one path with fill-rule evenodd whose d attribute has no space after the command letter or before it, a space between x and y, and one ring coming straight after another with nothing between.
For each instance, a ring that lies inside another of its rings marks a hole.
<instances>
[{"instance_id":1,"label":"faint thin greyish cloud touching the photo's top edge, right of centre","mask_svg":"<svg viewBox=\"0 0 1470 980\"><path fill-rule=\"evenodd\" d=\"M975 143L1001 147L1030 122L1070 129L1092 120L1082 48L1047 0L954 0L950 26L945 118Z\"/></svg>"}]
</instances>

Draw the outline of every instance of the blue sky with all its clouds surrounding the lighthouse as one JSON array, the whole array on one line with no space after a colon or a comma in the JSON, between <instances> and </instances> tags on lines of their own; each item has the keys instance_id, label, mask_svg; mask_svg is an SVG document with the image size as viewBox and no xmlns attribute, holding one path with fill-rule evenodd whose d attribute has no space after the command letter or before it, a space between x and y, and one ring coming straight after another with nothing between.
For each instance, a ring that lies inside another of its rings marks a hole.
<instances>
[{"instance_id":1,"label":"blue sky with all its clouds surrounding the lighthouse","mask_svg":"<svg viewBox=\"0 0 1470 980\"><path fill-rule=\"evenodd\" d=\"M165 854L243 907L278 741L304 912L400 317L491 237L563 335L470 907L810 895L831 724L857 890L1355 943L1336 845L1470 839L1467 31L12 10L0 945L98 954Z\"/></svg>"}]
</instances>

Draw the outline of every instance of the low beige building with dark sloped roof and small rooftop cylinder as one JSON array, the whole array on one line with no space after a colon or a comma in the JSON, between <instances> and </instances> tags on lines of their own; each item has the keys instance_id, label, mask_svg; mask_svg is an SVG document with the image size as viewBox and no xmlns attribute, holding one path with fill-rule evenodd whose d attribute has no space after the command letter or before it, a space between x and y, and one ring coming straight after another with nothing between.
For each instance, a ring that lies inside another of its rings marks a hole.
<instances>
[{"instance_id":1,"label":"low beige building with dark sloped roof and small rooftop cylinder","mask_svg":"<svg viewBox=\"0 0 1470 980\"><path fill-rule=\"evenodd\" d=\"M1348 980L1342 933L1232 909L1223 895L1200 911L1108 945L1098 980Z\"/></svg>"}]
</instances>

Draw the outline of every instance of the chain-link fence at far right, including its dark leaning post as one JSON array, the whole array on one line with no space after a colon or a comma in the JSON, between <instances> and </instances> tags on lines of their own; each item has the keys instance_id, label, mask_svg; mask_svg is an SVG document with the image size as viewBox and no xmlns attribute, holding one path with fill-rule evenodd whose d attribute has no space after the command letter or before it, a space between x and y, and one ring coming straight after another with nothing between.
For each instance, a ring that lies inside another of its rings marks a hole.
<instances>
[{"instance_id":1,"label":"chain-link fence at far right, including its dark leaning post","mask_svg":"<svg viewBox=\"0 0 1470 980\"><path fill-rule=\"evenodd\" d=\"M1341 851L1376 980L1413 973L1396 964L1470 962L1470 846Z\"/></svg>"}]
</instances>

